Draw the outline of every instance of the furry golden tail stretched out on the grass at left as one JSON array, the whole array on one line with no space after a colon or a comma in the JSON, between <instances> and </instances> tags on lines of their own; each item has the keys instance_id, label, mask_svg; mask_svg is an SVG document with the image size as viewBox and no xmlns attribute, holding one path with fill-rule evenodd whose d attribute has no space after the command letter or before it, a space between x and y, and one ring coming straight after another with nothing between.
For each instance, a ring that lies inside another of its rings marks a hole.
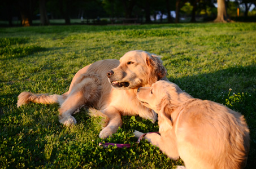
<instances>
[{"instance_id":1,"label":"furry golden tail stretched out on the grass at left","mask_svg":"<svg viewBox=\"0 0 256 169\"><path fill-rule=\"evenodd\" d=\"M30 101L33 103L44 103L44 104L53 104L53 103L63 103L67 95L47 95L47 94L32 94L31 92L21 92L18 96L17 107L27 104Z\"/></svg>"}]
</instances>

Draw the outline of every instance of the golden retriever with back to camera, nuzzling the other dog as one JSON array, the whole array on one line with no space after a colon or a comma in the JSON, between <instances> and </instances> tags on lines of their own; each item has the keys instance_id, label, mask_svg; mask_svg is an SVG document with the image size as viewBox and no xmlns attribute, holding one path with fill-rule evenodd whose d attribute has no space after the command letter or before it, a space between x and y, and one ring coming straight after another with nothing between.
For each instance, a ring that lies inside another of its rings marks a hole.
<instances>
[{"instance_id":1,"label":"golden retriever with back to camera, nuzzling the other dog","mask_svg":"<svg viewBox=\"0 0 256 169\"><path fill-rule=\"evenodd\" d=\"M158 113L158 134L147 139L186 168L244 168L249 129L244 116L222 104L194 99L175 83L158 81L138 88L137 98ZM140 137L143 133L135 131ZM178 166L178 168L185 168Z\"/></svg>"}]
</instances>

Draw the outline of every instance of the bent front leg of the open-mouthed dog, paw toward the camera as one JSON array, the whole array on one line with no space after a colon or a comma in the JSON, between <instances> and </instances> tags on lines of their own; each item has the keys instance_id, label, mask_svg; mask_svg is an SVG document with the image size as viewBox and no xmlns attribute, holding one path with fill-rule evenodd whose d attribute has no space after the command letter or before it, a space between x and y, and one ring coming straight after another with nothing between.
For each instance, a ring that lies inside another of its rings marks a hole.
<instances>
[{"instance_id":1,"label":"bent front leg of the open-mouthed dog, paw toward the camera","mask_svg":"<svg viewBox=\"0 0 256 169\"><path fill-rule=\"evenodd\" d=\"M116 131L118 131L118 127L122 127L122 118L119 111L115 108L108 108L103 110L104 114L109 117L109 123L101 132L99 132L99 137L105 139L106 137L111 136Z\"/></svg>"}]
</instances>

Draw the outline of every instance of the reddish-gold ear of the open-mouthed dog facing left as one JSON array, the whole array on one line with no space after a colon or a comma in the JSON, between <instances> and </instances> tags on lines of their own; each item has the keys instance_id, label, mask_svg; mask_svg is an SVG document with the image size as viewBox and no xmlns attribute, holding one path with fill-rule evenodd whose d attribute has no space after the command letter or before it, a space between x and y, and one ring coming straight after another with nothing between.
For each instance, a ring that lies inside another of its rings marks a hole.
<instances>
[{"instance_id":1,"label":"reddish-gold ear of the open-mouthed dog facing left","mask_svg":"<svg viewBox=\"0 0 256 169\"><path fill-rule=\"evenodd\" d=\"M162 64L162 60L156 55L147 55L147 66L149 66L149 83L153 84L166 76L167 72Z\"/></svg>"}]
</instances>

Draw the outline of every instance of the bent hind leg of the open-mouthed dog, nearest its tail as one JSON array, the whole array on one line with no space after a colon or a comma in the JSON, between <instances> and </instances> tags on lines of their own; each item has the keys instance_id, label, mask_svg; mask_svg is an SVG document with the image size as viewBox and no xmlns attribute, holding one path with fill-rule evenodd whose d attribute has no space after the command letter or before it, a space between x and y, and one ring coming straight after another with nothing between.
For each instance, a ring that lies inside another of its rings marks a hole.
<instances>
[{"instance_id":1,"label":"bent hind leg of the open-mouthed dog, nearest its tail","mask_svg":"<svg viewBox=\"0 0 256 169\"><path fill-rule=\"evenodd\" d=\"M82 74L59 108L59 122L66 126L76 124L72 114L83 105L94 106L101 96L101 89L101 78L98 75Z\"/></svg>"}]
</instances>

